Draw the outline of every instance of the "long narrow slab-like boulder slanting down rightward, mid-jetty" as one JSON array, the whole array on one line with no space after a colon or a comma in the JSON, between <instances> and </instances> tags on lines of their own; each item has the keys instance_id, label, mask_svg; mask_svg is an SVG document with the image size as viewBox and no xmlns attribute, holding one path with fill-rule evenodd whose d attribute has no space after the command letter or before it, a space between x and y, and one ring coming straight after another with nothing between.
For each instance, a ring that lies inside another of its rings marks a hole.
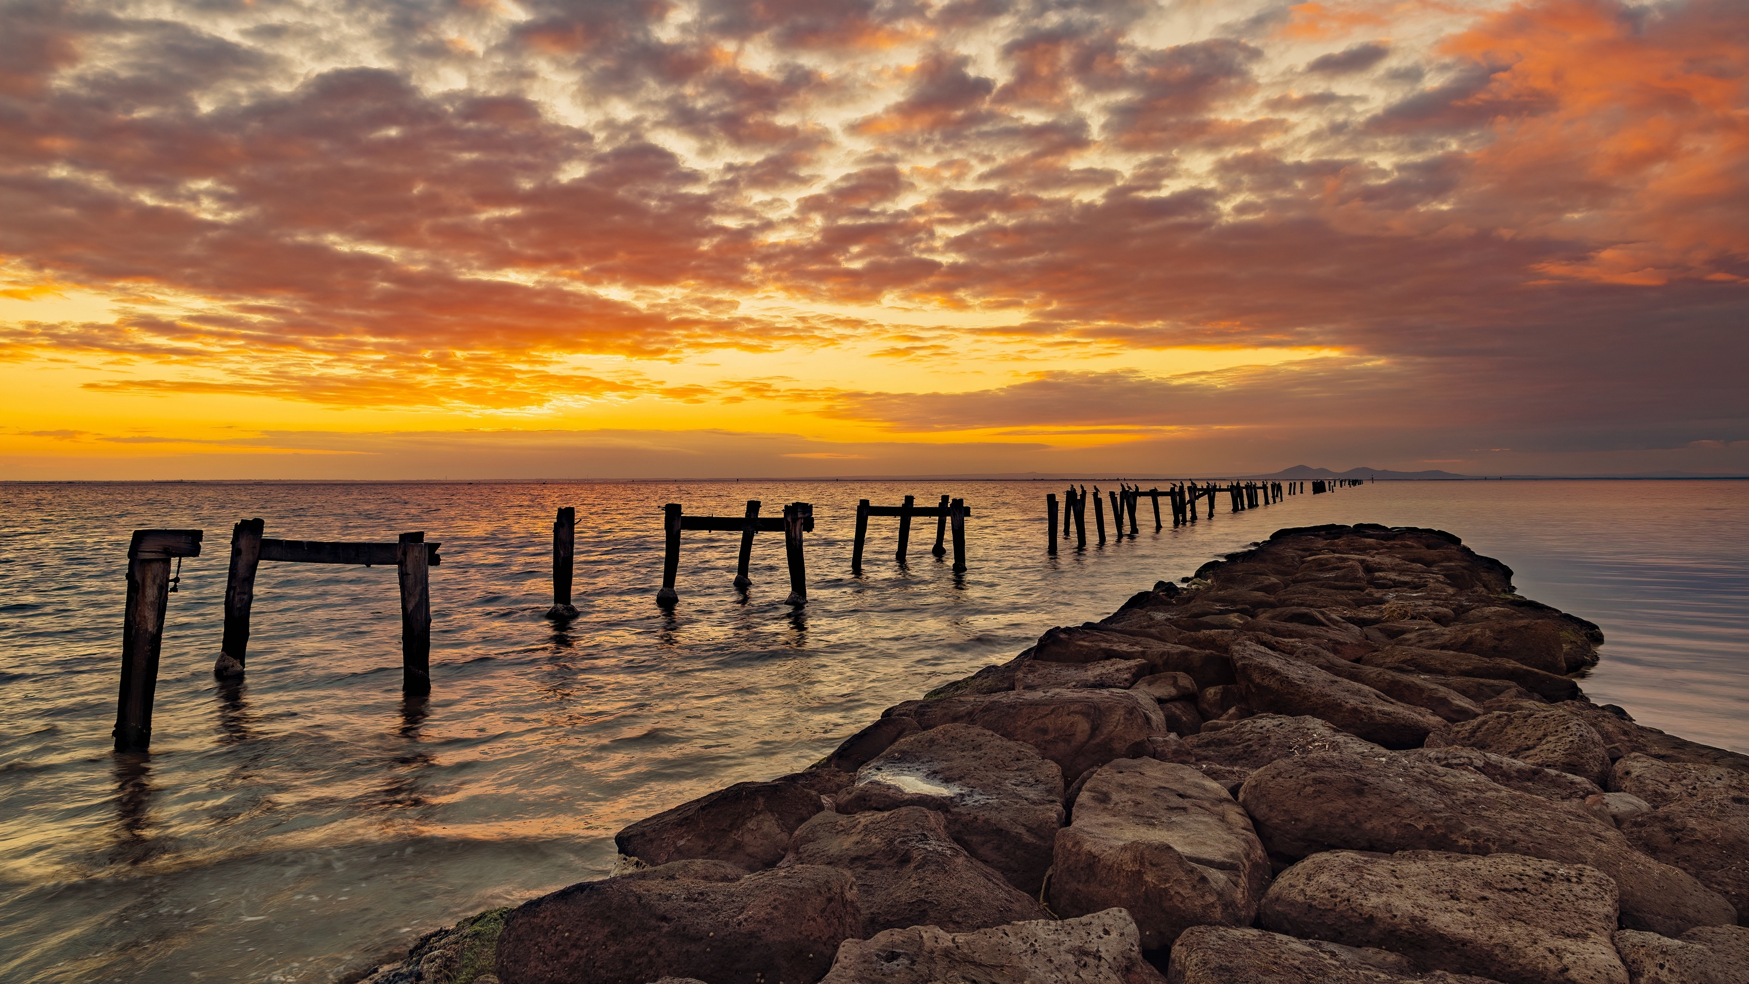
<instances>
[{"instance_id":1,"label":"long narrow slab-like boulder slanting down rightward, mid-jetty","mask_svg":"<svg viewBox=\"0 0 1749 984\"><path fill-rule=\"evenodd\" d=\"M1230 653L1245 706L1277 714L1310 714L1385 748L1418 748L1443 727L1436 714L1399 704L1371 686L1312 664L1237 643Z\"/></svg>"}]
</instances>

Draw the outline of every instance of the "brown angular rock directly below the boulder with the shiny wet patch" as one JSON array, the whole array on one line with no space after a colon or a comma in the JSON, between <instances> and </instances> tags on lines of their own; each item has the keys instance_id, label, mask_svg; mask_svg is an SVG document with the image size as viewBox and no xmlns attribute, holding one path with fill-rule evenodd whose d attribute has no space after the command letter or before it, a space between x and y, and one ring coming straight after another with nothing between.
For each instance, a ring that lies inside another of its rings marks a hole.
<instances>
[{"instance_id":1,"label":"brown angular rock directly below the boulder with the shiny wet patch","mask_svg":"<svg viewBox=\"0 0 1749 984\"><path fill-rule=\"evenodd\" d=\"M843 816L820 812L796 828L784 865L850 872L862 933L939 926L950 933L1044 919L1039 903L953 842L944 814L923 807Z\"/></svg>"}]
</instances>

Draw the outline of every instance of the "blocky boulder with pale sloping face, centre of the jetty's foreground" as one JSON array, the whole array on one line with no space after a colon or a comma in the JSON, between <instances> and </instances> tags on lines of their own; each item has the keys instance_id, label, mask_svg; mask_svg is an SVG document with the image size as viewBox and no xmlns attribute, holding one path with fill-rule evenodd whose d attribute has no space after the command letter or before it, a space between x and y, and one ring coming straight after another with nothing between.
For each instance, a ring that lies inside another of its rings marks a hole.
<instances>
[{"instance_id":1,"label":"blocky boulder with pale sloping face, centre of the jetty's foreground","mask_svg":"<svg viewBox=\"0 0 1749 984\"><path fill-rule=\"evenodd\" d=\"M1102 765L1056 832L1051 910L1135 916L1142 949L1202 923L1249 926L1270 884L1245 811L1196 769L1151 758Z\"/></svg>"}]
</instances>

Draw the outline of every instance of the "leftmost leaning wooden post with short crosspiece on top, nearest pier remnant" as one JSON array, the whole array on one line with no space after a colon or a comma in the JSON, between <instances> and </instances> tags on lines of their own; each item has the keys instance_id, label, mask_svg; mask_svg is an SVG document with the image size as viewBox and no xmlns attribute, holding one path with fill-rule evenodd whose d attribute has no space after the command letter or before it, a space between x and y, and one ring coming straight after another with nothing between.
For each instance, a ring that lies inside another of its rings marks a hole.
<instances>
[{"instance_id":1,"label":"leftmost leaning wooden post with short crosspiece on top, nearest pier remnant","mask_svg":"<svg viewBox=\"0 0 1749 984\"><path fill-rule=\"evenodd\" d=\"M152 744L157 653L170 608L170 559L199 557L198 529L136 529L128 543L128 611L121 623L121 688L115 695L115 751Z\"/></svg>"}]
</instances>

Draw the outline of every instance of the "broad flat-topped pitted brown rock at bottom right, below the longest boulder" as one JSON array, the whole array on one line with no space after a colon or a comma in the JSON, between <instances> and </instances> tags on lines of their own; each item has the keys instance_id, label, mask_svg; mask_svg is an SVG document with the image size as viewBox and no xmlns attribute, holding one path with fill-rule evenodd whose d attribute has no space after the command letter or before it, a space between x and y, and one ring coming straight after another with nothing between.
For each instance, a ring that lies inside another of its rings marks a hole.
<instances>
[{"instance_id":1,"label":"broad flat-topped pitted brown rock at bottom right, below the longest boulder","mask_svg":"<svg viewBox=\"0 0 1749 984\"><path fill-rule=\"evenodd\" d=\"M1611 942L1614 881L1523 854L1312 854L1275 879L1258 924L1508 984L1628 979Z\"/></svg>"}]
</instances>

